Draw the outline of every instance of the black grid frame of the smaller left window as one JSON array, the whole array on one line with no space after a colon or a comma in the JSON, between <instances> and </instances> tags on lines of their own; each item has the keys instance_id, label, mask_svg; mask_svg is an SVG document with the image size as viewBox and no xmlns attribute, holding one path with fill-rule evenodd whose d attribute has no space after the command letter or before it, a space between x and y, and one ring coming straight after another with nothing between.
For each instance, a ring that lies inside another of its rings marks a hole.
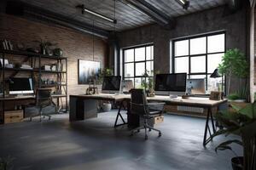
<instances>
[{"instance_id":1,"label":"black grid frame of the smaller left window","mask_svg":"<svg viewBox=\"0 0 256 170\"><path fill-rule=\"evenodd\" d=\"M151 50L151 56L153 56L153 59L147 59L147 47L152 46L153 50ZM140 61L136 61L135 59L135 49L136 48L145 48L145 59L144 60L140 60ZM129 49L133 49L133 61L130 62L125 62L125 51L129 50ZM153 52L152 52L153 51ZM125 80L125 78L127 79L132 79L133 80L133 86L135 87L135 79L136 78L143 78L142 76L137 76L136 75L136 64L137 63L144 63L145 64L145 71L147 70L147 62L148 61L152 61L153 62L153 71L154 71L154 43L148 43L148 44L143 44L143 45L139 45L139 46L135 46L135 47L131 47L131 48L123 48L122 50L122 79ZM125 64L129 64L129 63L133 63L133 69L134 69L134 75L133 77L125 77ZM146 77L144 77L146 78ZM154 74L152 76L149 76L149 78L154 78Z\"/></svg>"}]
</instances>

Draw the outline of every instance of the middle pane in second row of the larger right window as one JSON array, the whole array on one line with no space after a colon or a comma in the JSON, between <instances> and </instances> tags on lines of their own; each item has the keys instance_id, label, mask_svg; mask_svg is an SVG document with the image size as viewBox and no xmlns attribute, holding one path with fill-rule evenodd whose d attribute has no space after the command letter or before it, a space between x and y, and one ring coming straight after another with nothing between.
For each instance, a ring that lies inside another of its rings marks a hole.
<instances>
[{"instance_id":1,"label":"middle pane in second row of the larger right window","mask_svg":"<svg viewBox=\"0 0 256 170\"><path fill-rule=\"evenodd\" d=\"M206 72L206 56L191 57L190 72Z\"/></svg>"}]
</instances>

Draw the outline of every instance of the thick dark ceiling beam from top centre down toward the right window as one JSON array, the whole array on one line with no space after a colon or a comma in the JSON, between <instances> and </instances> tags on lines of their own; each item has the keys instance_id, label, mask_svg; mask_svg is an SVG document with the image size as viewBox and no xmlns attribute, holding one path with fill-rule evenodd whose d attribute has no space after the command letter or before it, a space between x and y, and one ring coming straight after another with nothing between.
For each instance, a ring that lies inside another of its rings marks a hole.
<instances>
[{"instance_id":1,"label":"thick dark ceiling beam from top centre down toward the right window","mask_svg":"<svg viewBox=\"0 0 256 170\"><path fill-rule=\"evenodd\" d=\"M168 15L160 11L160 9L155 8L151 3L146 2L145 0L119 0L122 3L132 6L142 11L143 14L147 14L151 17L156 23L160 26L164 26L167 29L173 28L175 22Z\"/></svg>"}]
</instances>

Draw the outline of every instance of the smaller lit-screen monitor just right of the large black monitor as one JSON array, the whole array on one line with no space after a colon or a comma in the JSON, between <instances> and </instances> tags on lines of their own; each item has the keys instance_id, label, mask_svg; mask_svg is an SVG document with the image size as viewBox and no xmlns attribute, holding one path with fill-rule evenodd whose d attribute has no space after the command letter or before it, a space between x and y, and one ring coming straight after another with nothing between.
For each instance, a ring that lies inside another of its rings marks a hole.
<instances>
[{"instance_id":1,"label":"smaller lit-screen monitor just right of the large black monitor","mask_svg":"<svg viewBox=\"0 0 256 170\"><path fill-rule=\"evenodd\" d=\"M206 79L193 78L187 80L188 94L206 94Z\"/></svg>"}]
</instances>

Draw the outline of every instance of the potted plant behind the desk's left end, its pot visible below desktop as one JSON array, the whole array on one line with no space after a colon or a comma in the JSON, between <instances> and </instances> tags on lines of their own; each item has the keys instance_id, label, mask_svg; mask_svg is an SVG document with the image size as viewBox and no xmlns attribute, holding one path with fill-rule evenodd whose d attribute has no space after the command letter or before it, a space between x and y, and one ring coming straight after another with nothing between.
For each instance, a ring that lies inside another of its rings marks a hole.
<instances>
[{"instance_id":1,"label":"potted plant behind the desk's left end, its pot visible below desktop","mask_svg":"<svg viewBox=\"0 0 256 170\"><path fill-rule=\"evenodd\" d=\"M97 84L102 84L103 82L103 77L111 77L113 76L113 69L110 69L108 67L105 67L104 69L102 69L99 73L99 75L97 76ZM110 101L103 101L101 108L103 111L107 112L107 111L111 111L112 109L112 105L110 103Z\"/></svg>"}]
</instances>

